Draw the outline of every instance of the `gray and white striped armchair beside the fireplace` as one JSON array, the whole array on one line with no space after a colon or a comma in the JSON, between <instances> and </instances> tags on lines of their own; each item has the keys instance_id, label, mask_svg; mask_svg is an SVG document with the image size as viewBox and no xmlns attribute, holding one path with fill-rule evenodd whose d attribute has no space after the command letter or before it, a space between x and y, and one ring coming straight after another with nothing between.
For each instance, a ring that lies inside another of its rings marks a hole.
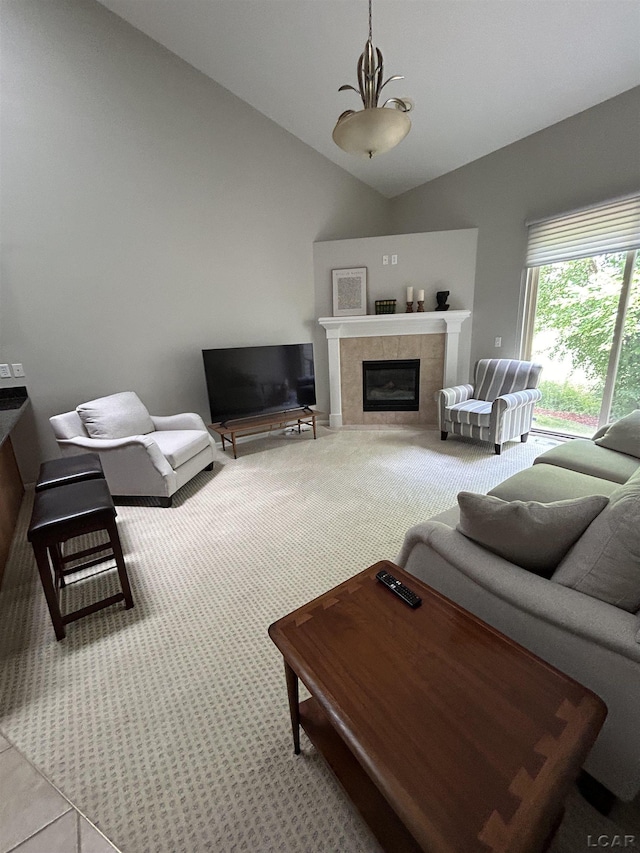
<instances>
[{"instance_id":1,"label":"gray and white striped armchair beside the fireplace","mask_svg":"<svg viewBox=\"0 0 640 853\"><path fill-rule=\"evenodd\" d=\"M482 358L473 385L456 385L438 393L440 437L450 432L493 444L496 453L505 441L526 441L533 407L542 394L538 380L542 366L531 361Z\"/></svg>"}]
</instances>

